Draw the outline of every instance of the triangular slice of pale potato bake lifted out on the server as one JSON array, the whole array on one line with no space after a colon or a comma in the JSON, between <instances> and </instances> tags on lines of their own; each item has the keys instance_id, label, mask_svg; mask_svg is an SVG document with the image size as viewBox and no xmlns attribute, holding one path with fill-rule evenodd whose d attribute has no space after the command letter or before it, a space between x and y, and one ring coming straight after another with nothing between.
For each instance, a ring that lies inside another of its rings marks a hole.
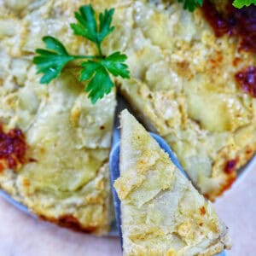
<instances>
[{"instance_id":1,"label":"triangular slice of pale potato bake lifted out on the server","mask_svg":"<svg viewBox=\"0 0 256 256\"><path fill-rule=\"evenodd\" d=\"M127 111L121 113L120 177L124 255L214 255L230 247L212 203Z\"/></svg>"}]
</instances>

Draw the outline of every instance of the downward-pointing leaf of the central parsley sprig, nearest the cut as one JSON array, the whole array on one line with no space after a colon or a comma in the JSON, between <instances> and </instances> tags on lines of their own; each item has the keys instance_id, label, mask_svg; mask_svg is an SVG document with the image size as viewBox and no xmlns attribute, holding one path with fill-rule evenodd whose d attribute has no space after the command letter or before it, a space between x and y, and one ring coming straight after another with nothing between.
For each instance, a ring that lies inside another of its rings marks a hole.
<instances>
[{"instance_id":1,"label":"downward-pointing leaf of the central parsley sprig, nearest the cut","mask_svg":"<svg viewBox=\"0 0 256 256\"><path fill-rule=\"evenodd\" d=\"M80 80L90 79L85 91L89 92L91 102L95 103L105 94L110 93L114 84L101 62L86 61L82 63L82 67L84 69L81 72Z\"/></svg>"}]
</instances>

